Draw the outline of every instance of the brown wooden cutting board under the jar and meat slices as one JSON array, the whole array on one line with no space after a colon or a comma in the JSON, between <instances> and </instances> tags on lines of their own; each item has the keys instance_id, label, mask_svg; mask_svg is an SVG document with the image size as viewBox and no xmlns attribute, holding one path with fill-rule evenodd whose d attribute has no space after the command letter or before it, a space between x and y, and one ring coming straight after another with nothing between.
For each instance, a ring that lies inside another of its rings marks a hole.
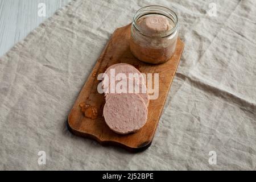
<instances>
[{"instance_id":1,"label":"brown wooden cutting board under the jar and meat slices","mask_svg":"<svg viewBox=\"0 0 256 182\"><path fill-rule=\"evenodd\" d=\"M152 142L168 91L179 65L184 43L180 39L177 40L175 55L166 63L146 64L136 59L130 52L130 30L131 24L114 31L68 115L68 129L75 135L95 139L101 144L113 144L136 152L143 151ZM105 72L106 68L116 63L134 65L142 73L159 73L159 97L150 101L147 123L137 133L116 134L109 129L104 117L102 117L105 99L104 94L97 92L97 86L100 82L97 80L97 75ZM97 118L85 117L79 106L81 103L95 107L98 111Z\"/></svg>"}]
</instances>

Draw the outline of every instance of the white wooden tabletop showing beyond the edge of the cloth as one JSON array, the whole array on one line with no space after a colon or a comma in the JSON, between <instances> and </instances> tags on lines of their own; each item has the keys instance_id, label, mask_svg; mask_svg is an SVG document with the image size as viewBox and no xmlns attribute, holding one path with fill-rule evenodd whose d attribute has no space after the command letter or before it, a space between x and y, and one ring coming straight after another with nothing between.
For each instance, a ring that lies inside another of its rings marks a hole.
<instances>
[{"instance_id":1,"label":"white wooden tabletop showing beyond the edge of the cloth","mask_svg":"<svg viewBox=\"0 0 256 182\"><path fill-rule=\"evenodd\" d=\"M0 0L0 56L70 1ZM44 5L46 16L42 14Z\"/></svg>"}]
</instances>

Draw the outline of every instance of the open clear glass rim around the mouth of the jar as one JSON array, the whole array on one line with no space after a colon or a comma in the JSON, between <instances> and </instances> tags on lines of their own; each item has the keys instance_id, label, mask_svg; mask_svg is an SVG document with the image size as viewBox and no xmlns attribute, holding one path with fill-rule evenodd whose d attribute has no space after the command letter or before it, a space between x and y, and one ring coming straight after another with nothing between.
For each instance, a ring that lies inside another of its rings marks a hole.
<instances>
[{"instance_id":1,"label":"open clear glass rim around the mouth of the jar","mask_svg":"<svg viewBox=\"0 0 256 182\"><path fill-rule=\"evenodd\" d=\"M134 27L144 36L147 37L151 37L151 38L156 38L154 36L148 36L143 34L143 30L141 29L141 27L138 26L137 24L137 20L139 18L141 18L144 15L148 15L148 14L158 14L158 15L163 15L166 16L167 18L171 19L172 22L174 23L174 27L172 27L170 30L168 30L166 32L166 35L164 36L156 36L157 38L165 38L167 36L172 35L176 30L177 30L177 26L178 26L178 18L177 18L177 14L175 13L175 11L169 9L168 7L165 6L160 6L160 5L149 5L149 6L144 6L141 7L141 9L137 10L135 15L133 16L133 24Z\"/></svg>"}]
</instances>

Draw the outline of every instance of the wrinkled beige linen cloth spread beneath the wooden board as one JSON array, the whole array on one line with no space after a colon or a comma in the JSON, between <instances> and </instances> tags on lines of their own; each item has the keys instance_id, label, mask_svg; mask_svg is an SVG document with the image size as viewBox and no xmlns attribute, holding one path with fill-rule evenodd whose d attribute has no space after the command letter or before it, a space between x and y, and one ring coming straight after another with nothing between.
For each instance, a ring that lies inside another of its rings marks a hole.
<instances>
[{"instance_id":1,"label":"wrinkled beige linen cloth spread beneath the wooden board","mask_svg":"<svg viewBox=\"0 0 256 182\"><path fill-rule=\"evenodd\" d=\"M185 49L152 145L131 154L69 133L112 32L155 4L176 10ZM0 169L255 170L255 40L253 0L72 1L0 59Z\"/></svg>"}]
</instances>

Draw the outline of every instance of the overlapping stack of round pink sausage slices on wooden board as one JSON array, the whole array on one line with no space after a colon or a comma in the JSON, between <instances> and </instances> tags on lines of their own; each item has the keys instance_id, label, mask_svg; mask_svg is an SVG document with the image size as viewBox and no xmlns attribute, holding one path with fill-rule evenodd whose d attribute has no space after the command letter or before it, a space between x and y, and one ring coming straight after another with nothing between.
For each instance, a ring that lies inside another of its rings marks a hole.
<instances>
[{"instance_id":1,"label":"overlapping stack of round pink sausage slices on wooden board","mask_svg":"<svg viewBox=\"0 0 256 182\"><path fill-rule=\"evenodd\" d=\"M150 100L145 83L142 73L133 65L119 63L106 69L102 76L106 100L103 115L115 133L134 133L147 122Z\"/></svg>"}]
</instances>

